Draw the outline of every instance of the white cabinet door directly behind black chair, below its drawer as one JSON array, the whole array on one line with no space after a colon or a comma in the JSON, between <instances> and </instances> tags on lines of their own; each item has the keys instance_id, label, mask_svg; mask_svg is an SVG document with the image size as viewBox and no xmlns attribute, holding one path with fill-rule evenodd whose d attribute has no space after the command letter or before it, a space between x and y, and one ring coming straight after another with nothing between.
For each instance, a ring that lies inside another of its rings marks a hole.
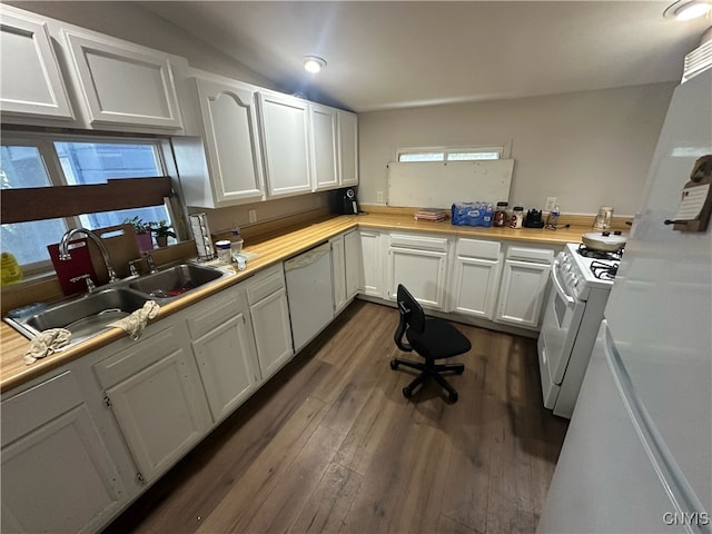
<instances>
[{"instance_id":1,"label":"white cabinet door directly behind black chair, below its drawer","mask_svg":"<svg viewBox=\"0 0 712 534\"><path fill-rule=\"evenodd\" d=\"M443 308L446 271L446 253L390 247L387 298L394 300L398 284L403 284L422 306Z\"/></svg>"}]
</instances>

